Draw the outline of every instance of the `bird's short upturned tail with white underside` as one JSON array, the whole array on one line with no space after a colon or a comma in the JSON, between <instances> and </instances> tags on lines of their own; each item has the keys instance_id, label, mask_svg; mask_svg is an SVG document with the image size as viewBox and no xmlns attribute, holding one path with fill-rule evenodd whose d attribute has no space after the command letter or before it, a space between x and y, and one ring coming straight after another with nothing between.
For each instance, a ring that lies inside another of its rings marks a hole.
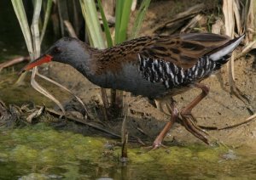
<instances>
[{"instance_id":1,"label":"bird's short upturned tail with white underside","mask_svg":"<svg viewBox=\"0 0 256 180\"><path fill-rule=\"evenodd\" d=\"M241 37L236 37L230 42L225 43L223 46L214 49L209 54L209 59L216 61L218 64L225 64L227 60L230 58L231 53L235 50L235 48L240 44L241 40L245 37L245 34L241 35Z\"/></svg>"}]
</instances>

